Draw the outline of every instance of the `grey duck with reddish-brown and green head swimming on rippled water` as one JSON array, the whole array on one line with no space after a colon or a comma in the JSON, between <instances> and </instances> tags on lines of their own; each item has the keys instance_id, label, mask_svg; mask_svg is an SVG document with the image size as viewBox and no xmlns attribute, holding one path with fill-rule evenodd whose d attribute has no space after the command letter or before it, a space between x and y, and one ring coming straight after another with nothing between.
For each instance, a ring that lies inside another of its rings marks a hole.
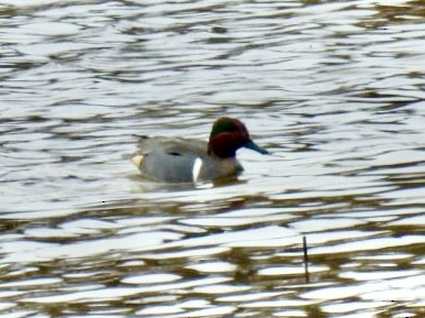
<instances>
[{"instance_id":1,"label":"grey duck with reddish-brown and green head swimming on rippled water","mask_svg":"<svg viewBox=\"0 0 425 318\"><path fill-rule=\"evenodd\" d=\"M208 142L186 138L137 138L138 151L131 162L144 178L160 183L200 183L237 176L243 171L236 157L241 147L270 154L252 141L239 119L229 117L212 123Z\"/></svg>"}]
</instances>

